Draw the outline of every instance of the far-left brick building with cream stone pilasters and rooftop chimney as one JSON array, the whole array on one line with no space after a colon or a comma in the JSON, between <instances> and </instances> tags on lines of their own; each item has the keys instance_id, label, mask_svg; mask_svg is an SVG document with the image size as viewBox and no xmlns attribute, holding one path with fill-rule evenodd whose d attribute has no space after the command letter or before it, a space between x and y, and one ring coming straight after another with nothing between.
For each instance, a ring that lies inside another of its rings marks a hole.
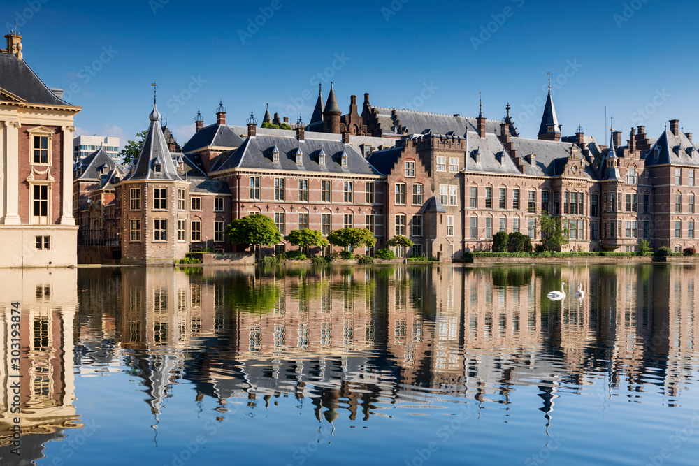
<instances>
[{"instance_id":1,"label":"far-left brick building with cream stone pilasters and rooftop chimney","mask_svg":"<svg viewBox=\"0 0 699 466\"><path fill-rule=\"evenodd\" d=\"M77 263L71 203L73 117L22 55L22 36L0 51L0 267Z\"/></svg>"}]
</instances>

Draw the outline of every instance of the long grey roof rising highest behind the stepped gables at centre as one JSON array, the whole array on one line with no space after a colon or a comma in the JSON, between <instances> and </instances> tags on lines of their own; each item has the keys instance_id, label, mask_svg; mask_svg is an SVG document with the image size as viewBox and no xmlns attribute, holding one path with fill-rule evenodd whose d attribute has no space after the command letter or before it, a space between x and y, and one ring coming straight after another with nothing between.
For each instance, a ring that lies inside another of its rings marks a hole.
<instances>
[{"instance_id":1,"label":"long grey roof rising highest behind the stepped gables at centre","mask_svg":"<svg viewBox=\"0 0 699 466\"><path fill-rule=\"evenodd\" d=\"M415 110L399 110L395 108L371 107L377 116L382 130L382 135L401 136L401 128L396 128L396 120L401 122L408 134L422 134L431 130L436 134L454 133L454 136L466 136L467 131L478 131L475 118L455 117L454 115L442 115L439 113L416 112ZM393 115L393 112L396 115ZM486 119L486 133L500 134L500 120ZM512 133L514 126L510 126Z\"/></svg>"}]
</instances>

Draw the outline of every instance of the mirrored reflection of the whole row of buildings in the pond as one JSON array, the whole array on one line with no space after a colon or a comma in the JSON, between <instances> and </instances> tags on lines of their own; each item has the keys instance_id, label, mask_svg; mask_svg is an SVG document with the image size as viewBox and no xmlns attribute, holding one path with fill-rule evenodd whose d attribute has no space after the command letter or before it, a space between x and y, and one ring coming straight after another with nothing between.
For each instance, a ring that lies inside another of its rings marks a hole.
<instances>
[{"instance_id":1,"label":"mirrored reflection of the whole row of buildings in the pond","mask_svg":"<svg viewBox=\"0 0 699 466\"><path fill-rule=\"evenodd\" d=\"M219 421L241 401L250 418L282 416L275 406L291 398L333 429L339 418L405 420L455 402L482 416L517 407L516 391L535 393L528 422L545 432L564 393L593 386L607 402L654 393L677 406L696 384L695 277L679 265L105 268L24 271L0 286L2 296L22 289L22 430L39 439L39 458L41 444L81 426L66 364L74 334L78 377L141 381L156 445L178 397L212 400ZM573 292L549 300L561 282ZM180 384L192 391L175 393Z\"/></svg>"}]
</instances>

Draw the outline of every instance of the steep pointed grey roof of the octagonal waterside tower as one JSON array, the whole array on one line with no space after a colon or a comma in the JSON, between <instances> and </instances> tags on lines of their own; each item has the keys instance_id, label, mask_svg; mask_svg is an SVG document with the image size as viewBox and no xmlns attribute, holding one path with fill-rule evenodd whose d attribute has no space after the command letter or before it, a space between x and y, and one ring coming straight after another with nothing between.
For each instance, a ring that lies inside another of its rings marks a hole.
<instances>
[{"instance_id":1,"label":"steep pointed grey roof of the octagonal waterside tower","mask_svg":"<svg viewBox=\"0 0 699 466\"><path fill-rule=\"evenodd\" d=\"M124 178L129 180L171 180L184 181L180 178L175 168L173 157L168 150L165 136L160 127L160 113L157 105L153 104L150 114L150 126L143 140L138 159L132 162L134 169ZM160 172L154 171L156 165L160 166Z\"/></svg>"}]
</instances>

